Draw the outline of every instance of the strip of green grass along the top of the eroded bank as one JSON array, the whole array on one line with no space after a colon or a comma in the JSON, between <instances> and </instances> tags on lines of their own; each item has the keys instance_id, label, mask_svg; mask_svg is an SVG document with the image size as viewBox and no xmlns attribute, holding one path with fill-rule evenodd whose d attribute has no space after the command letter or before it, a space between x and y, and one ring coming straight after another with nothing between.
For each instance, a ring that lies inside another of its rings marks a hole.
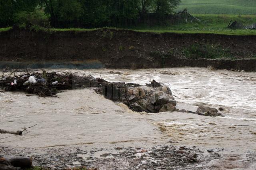
<instances>
[{"instance_id":1,"label":"strip of green grass along the top of the eroded bank","mask_svg":"<svg viewBox=\"0 0 256 170\"><path fill-rule=\"evenodd\" d=\"M134 30L138 32L155 32L155 33L165 33L173 32L178 34L196 34L196 33L206 33L206 34L225 34L225 35L256 35L256 30L231 30L227 28L230 20L236 20L242 22L243 24L252 24L256 23L256 15L230 15L230 14L194 14L194 16L202 22L193 22L193 23L180 23L173 24L168 26L136 26L136 27L127 27L123 29ZM96 29L84 29L84 28L51 28L51 32L64 32L64 31L92 31ZM114 28L120 29L120 28ZM10 28L0 28L1 31L7 31ZM42 29L47 31L47 29Z\"/></svg>"}]
</instances>

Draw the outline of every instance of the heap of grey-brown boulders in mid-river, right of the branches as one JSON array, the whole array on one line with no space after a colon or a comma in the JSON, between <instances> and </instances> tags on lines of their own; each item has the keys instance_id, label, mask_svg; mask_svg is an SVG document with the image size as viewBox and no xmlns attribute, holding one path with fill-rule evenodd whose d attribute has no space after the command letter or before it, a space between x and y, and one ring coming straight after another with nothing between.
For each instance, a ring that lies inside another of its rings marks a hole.
<instances>
[{"instance_id":1,"label":"heap of grey-brown boulders in mid-river, right of the branches","mask_svg":"<svg viewBox=\"0 0 256 170\"><path fill-rule=\"evenodd\" d=\"M170 88L156 81L150 84L102 83L98 93L113 101L122 101L137 112L158 113L176 111L176 101Z\"/></svg>"}]
</instances>

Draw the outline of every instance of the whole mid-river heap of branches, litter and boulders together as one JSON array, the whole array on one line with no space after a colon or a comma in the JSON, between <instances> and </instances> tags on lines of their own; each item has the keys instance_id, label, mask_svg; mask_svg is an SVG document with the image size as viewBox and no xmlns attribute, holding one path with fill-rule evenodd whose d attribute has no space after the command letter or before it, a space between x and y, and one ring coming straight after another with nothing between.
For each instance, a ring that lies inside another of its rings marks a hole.
<instances>
[{"instance_id":1,"label":"whole mid-river heap of branches, litter and boulders together","mask_svg":"<svg viewBox=\"0 0 256 170\"><path fill-rule=\"evenodd\" d=\"M9 75L2 75L0 88L4 91L24 91L45 97L54 96L61 90L95 87L97 93L107 99L121 101L133 111L152 113L176 111L176 101L170 87L154 80L143 86L136 83L110 83L91 75L36 71L27 71L21 75L15 75L13 71Z\"/></svg>"}]
</instances>

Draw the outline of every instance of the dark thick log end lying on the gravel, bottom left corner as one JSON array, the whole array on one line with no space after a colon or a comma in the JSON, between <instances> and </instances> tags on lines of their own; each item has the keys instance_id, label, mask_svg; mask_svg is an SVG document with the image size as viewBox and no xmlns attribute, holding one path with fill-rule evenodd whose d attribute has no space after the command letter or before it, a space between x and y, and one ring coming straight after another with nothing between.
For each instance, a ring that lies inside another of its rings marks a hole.
<instances>
[{"instance_id":1,"label":"dark thick log end lying on the gravel, bottom left corner","mask_svg":"<svg viewBox=\"0 0 256 170\"><path fill-rule=\"evenodd\" d=\"M2 157L0 158L0 170L16 170L16 168L30 168L33 159L30 157Z\"/></svg>"}]
</instances>

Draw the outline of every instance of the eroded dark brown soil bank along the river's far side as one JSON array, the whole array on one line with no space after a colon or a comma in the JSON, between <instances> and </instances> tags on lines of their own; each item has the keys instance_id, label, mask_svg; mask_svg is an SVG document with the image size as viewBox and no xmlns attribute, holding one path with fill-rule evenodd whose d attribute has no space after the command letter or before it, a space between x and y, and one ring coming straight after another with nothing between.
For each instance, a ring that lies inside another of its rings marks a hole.
<instances>
[{"instance_id":1,"label":"eroded dark brown soil bank along the river's far side","mask_svg":"<svg viewBox=\"0 0 256 170\"><path fill-rule=\"evenodd\" d=\"M0 32L0 61L98 60L106 68L207 67L256 71L256 36L149 33L102 29L83 32ZM220 44L229 59L185 59L183 49L193 43Z\"/></svg>"}]
</instances>

